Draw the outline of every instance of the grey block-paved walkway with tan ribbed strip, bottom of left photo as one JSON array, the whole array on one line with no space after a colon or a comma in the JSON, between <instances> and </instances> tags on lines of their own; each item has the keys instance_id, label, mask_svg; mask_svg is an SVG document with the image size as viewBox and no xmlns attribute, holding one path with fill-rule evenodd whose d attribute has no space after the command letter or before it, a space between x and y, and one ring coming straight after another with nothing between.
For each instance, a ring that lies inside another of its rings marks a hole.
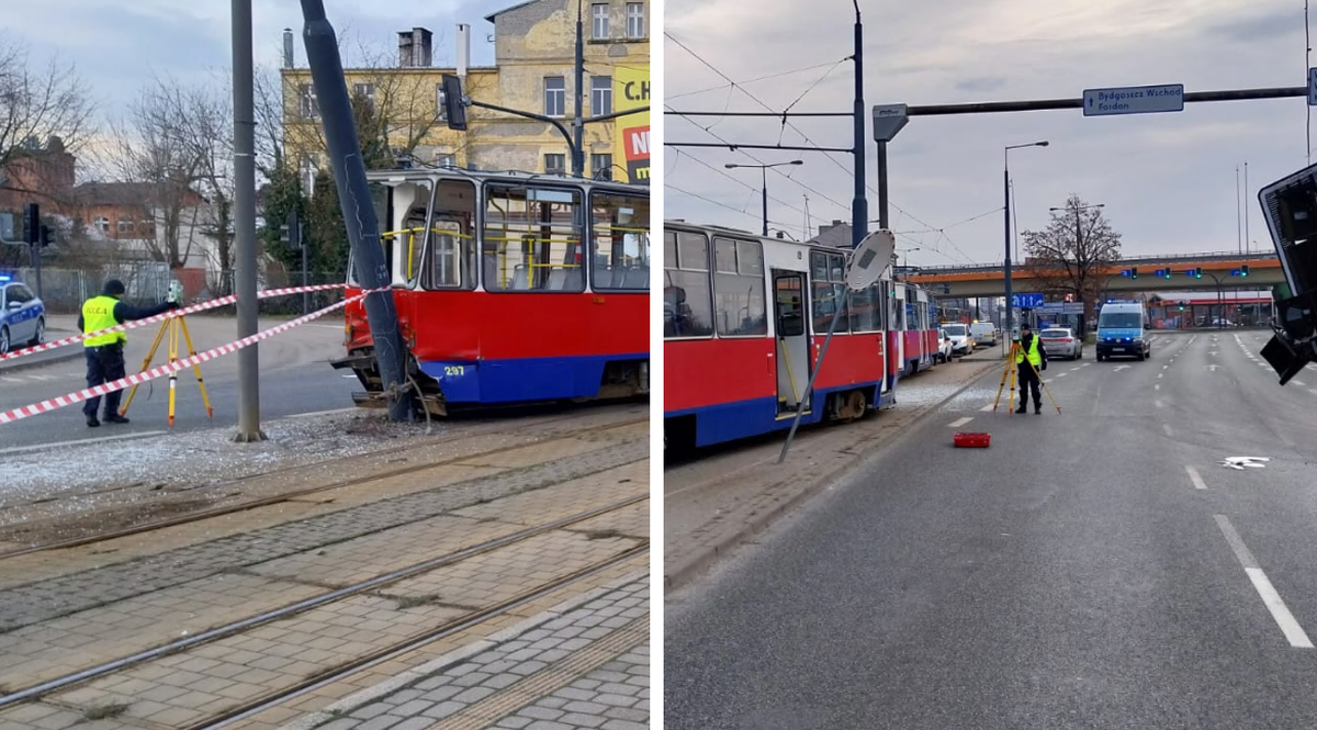
<instances>
[{"instance_id":1,"label":"grey block-paved walkway with tan ribbed strip, bottom of left photo","mask_svg":"<svg viewBox=\"0 0 1317 730\"><path fill-rule=\"evenodd\" d=\"M605 586L282 730L648 727L648 582Z\"/></svg>"}]
</instances>

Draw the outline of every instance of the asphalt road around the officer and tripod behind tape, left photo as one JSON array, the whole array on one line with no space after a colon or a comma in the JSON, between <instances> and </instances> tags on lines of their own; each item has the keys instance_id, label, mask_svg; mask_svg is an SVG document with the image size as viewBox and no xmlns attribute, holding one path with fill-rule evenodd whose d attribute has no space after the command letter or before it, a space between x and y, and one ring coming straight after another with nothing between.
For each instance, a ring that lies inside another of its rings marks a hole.
<instances>
[{"instance_id":1,"label":"asphalt road around the officer and tripod behind tape, left photo","mask_svg":"<svg viewBox=\"0 0 1317 730\"><path fill-rule=\"evenodd\" d=\"M263 319L261 329L284 320ZM236 323L224 318L188 318L188 331L198 352L221 345L236 337ZM128 333L128 372L141 369L158 325L132 329ZM66 332L51 332L51 339ZM70 345L78 348L80 345ZM333 322L308 323L257 345L261 366L261 419L271 420L288 415L350 408L352 391L361 386L345 372L335 370L328 361L342 353L342 327ZM58 352L58 351L55 351ZM186 356L186 353L183 353ZM167 362L167 345L158 349L153 365ZM0 370L0 411L26 406L82 390L87 386L86 366L80 358L26 368L17 372ZM202 403L196 376L191 369L180 370L175 398L175 431L192 431L216 426L237 426L238 374L237 354L227 354L202 364L202 376L213 419L207 418ZM124 401L128 391L124 393ZM104 411L104 405L101 406ZM30 416L0 426L0 457L5 449L22 449L40 444L63 444L82 439L103 439L161 431L169 428L169 378L158 378L137 389L129 406L128 424L101 423L88 428L82 414L82 403Z\"/></svg>"}]
</instances>

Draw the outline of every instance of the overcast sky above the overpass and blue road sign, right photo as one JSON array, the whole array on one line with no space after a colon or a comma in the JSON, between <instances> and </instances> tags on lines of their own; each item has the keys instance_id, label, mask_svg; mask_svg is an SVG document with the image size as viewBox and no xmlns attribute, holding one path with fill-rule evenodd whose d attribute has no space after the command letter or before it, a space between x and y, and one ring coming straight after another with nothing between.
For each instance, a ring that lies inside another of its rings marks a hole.
<instances>
[{"instance_id":1,"label":"overcast sky above the overpass and blue road sign, right photo","mask_svg":"<svg viewBox=\"0 0 1317 730\"><path fill-rule=\"evenodd\" d=\"M1085 88L1100 87L1183 83L1192 92L1306 83L1303 0L861 0L860 5L865 109L886 103L1079 98ZM668 0L666 8L666 33L707 62L666 41L664 103L670 109L764 111L753 94L780 112L806 91L793 111L852 108L853 63L836 63L852 53L851 0ZM718 75L741 83L819 65L738 90ZM711 87L719 88L699 92ZM898 250L922 249L909 254L911 265L1000 261L1002 148L1036 140L1051 146L1010 153L1025 229L1043 227L1047 208L1063 206L1075 192L1106 206L1123 236L1125 256L1235 250L1235 167L1242 178L1247 161L1250 239L1255 248L1270 250L1256 190L1306 165L1306 115L1305 99L1276 99L1193 103L1183 112L1126 117L1085 119L1080 109L915 117L889 146L892 228L909 232L898 239ZM712 142L716 134L777 144L781 130L778 120L694 120L712 124L706 133L693 121L665 119L670 142ZM817 145L852 145L849 119L793 124ZM872 128L865 140L869 217L877 219ZM807 142L786 129L781 144ZM760 171L723 167L755 163L753 155L761 162L805 161L769 171L772 227L799 237L803 195L815 228L851 220L849 154L680 152L665 150L666 217L757 232ZM961 223L975 216L982 217ZM942 232L921 233L930 228Z\"/></svg>"}]
</instances>

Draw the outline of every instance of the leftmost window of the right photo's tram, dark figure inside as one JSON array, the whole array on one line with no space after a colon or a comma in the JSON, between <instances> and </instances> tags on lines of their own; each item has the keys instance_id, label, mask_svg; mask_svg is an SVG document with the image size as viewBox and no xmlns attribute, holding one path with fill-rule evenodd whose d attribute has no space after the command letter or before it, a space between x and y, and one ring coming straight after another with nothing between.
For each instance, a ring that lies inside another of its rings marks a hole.
<instances>
[{"instance_id":1,"label":"leftmost window of the right photo's tram, dark figure inside","mask_svg":"<svg viewBox=\"0 0 1317 730\"><path fill-rule=\"evenodd\" d=\"M709 286L709 239L701 233L664 232L662 336L709 337L714 310Z\"/></svg>"}]
</instances>

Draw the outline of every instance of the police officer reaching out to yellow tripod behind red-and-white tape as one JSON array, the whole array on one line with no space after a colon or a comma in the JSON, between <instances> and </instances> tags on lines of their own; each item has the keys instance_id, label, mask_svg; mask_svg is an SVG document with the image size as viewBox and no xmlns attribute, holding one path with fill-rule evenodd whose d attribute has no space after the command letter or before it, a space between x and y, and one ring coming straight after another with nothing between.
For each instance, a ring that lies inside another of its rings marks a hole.
<instances>
[{"instance_id":1,"label":"police officer reaching out to yellow tripod behind red-and-white tape","mask_svg":"<svg viewBox=\"0 0 1317 730\"><path fill-rule=\"evenodd\" d=\"M78 316L78 328L83 333L97 332L122 324L134 319L146 319L161 312L178 308L178 302L165 302L154 307L133 307L120 302L124 295L124 282L109 279L99 296L83 302L82 314ZM96 387L107 382L115 382L125 376L124 373L124 343L128 336L122 332L97 335L83 340L83 352L87 354L87 387ZM119 415L119 401L124 391L116 390L105 395L105 423L128 423L128 419ZM83 414L87 416L87 426L95 428L100 426L96 420L96 408L100 406L100 395L88 398L83 403Z\"/></svg>"}]
</instances>

